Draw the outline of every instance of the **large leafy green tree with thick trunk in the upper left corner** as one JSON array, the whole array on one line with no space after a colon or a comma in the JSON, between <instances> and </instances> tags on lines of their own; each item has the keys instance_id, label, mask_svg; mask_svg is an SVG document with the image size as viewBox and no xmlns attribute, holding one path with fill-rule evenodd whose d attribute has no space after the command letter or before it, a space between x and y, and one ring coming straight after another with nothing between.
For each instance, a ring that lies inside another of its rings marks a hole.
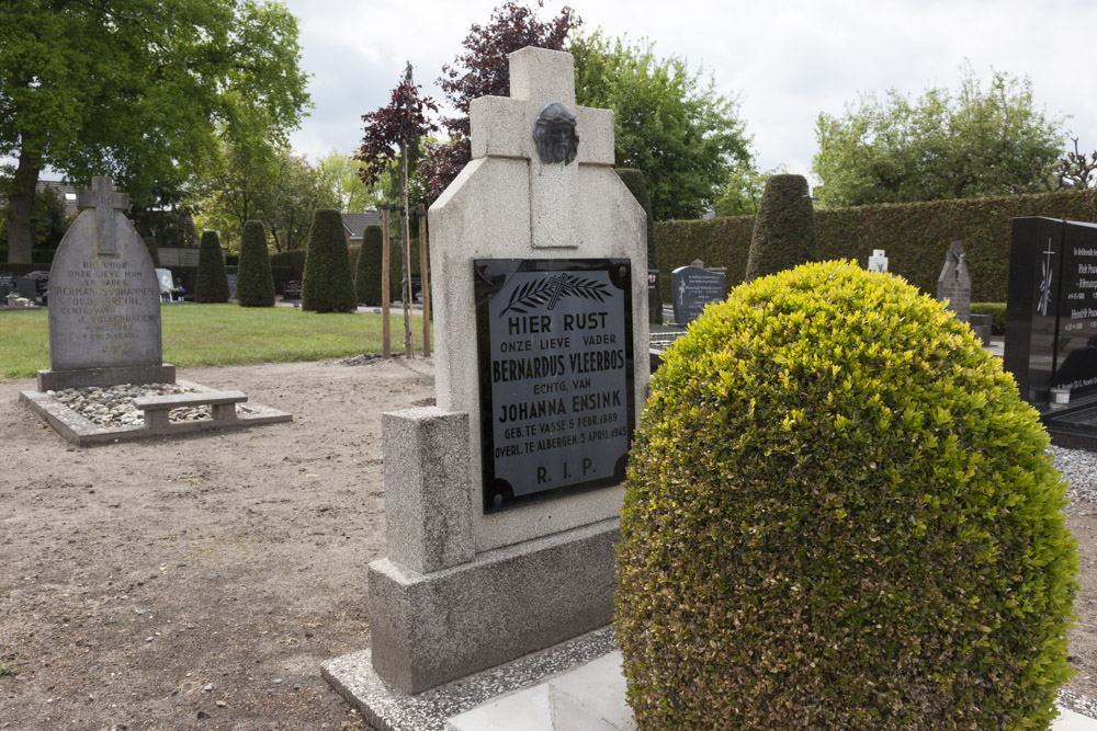
<instances>
[{"instance_id":1,"label":"large leafy green tree with thick trunk in the upper left corner","mask_svg":"<svg viewBox=\"0 0 1097 731\"><path fill-rule=\"evenodd\" d=\"M0 156L9 261L31 258L41 171L110 175L134 203L185 180L220 125L284 140L309 104L297 22L257 0L0 3Z\"/></svg>"}]
</instances>

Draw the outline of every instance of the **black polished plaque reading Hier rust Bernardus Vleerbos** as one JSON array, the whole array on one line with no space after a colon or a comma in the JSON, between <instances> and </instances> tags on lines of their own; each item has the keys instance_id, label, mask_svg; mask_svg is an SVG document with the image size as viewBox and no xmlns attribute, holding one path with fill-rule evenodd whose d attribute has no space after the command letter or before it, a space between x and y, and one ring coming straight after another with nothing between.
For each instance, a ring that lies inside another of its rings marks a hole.
<instances>
[{"instance_id":1,"label":"black polished plaque reading Hier rust Bernardus Vleerbos","mask_svg":"<svg viewBox=\"0 0 1097 731\"><path fill-rule=\"evenodd\" d=\"M484 512L624 481L632 265L476 260Z\"/></svg>"}]
</instances>

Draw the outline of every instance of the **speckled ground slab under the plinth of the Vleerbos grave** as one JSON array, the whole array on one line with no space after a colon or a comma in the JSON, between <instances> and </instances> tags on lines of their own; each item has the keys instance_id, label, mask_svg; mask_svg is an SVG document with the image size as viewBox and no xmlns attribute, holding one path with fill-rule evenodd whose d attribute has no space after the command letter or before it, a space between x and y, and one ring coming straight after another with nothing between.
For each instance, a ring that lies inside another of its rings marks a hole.
<instances>
[{"instance_id":1,"label":"speckled ground slab under the plinth of the Vleerbos grave","mask_svg":"<svg viewBox=\"0 0 1097 731\"><path fill-rule=\"evenodd\" d=\"M385 683L373 669L370 650L325 662L320 675L378 731L445 731L446 721L459 713L535 686L614 650L613 628L603 627L417 696Z\"/></svg>"}]
</instances>

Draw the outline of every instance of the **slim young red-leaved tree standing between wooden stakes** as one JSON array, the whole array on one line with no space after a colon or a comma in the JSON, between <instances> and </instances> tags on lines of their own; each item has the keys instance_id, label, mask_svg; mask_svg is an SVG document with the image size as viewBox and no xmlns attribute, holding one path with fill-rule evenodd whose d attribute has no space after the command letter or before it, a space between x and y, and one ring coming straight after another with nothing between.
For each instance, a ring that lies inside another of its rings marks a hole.
<instances>
[{"instance_id":1,"label":"slim young red-leaved tree standing between wooden stakes","mask_svg":"<svg viewBox=\"0 0 1097 731\"><path fill-rule=\"evenodd\" d=\"M411 312L409 308L411 236L408 227L408 146L423 135L438 129L438 125L427 118L427 111L437 113L438 105L430 96L420 96L421 89L422 87L416 84L411 79L411 64L409 61L404 69L400 82L393 90L388 106L362 115L362 122L365 123L365 135L362 137L362 147L354 156L354 159L362 163L358 175L372 191L381 175L388 169L393 156L399 155L400 205L404 208L400 214L403 224L400 231L404 239L404 285L400 299L404 304L404 351L408 357L411 357L412 354ZM381 275L387 277L388 272L382 272Z\"/></svg>"}]
</instances>

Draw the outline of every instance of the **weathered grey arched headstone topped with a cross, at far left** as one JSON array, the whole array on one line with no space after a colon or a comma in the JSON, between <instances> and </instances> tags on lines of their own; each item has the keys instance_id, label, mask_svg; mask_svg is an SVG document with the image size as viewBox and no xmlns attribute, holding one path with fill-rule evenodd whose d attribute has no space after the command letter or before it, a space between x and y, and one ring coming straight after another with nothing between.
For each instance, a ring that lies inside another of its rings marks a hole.
<instances>
[{"instance_id":1,"label":"weathered grey arched headstone topped with a cross, at far left","mask_svg":"<svg viewBox=\"0 0 1097 731\"><path fill-rule=\"evenodd\" d=\"M82 213L49 275L49 370L38 390L174 381L160 345L160 286L148 248L106 178L78 194Z\"/></svg>"}]
</instances>

